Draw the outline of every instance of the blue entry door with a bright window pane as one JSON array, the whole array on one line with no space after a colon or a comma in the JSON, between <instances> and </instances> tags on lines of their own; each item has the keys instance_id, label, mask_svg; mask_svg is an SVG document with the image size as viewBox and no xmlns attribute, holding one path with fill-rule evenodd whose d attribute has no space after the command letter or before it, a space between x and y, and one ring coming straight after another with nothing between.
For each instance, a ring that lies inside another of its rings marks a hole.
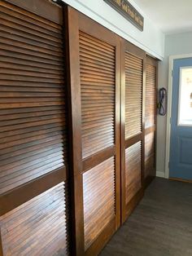
<instances>
[{"instance_id":1,"label":"blue entry door with a bright window pane","mask_svg":"<svg viewBox=\"0 0 192 256\"><path fill-rule=\"evenodd\" d=\"M169 177L192 180L192 58L173 62Z\"/></svg>"}]
</instances>

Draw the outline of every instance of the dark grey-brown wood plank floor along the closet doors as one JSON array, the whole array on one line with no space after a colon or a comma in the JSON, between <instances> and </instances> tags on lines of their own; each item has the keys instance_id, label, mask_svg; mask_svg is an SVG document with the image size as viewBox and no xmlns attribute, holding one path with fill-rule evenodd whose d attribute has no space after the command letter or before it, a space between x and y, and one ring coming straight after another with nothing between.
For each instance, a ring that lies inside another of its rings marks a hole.
<instances>
[{"instance_id":1,"label":"dark grey-brown wood plank floor along the closet doors","mask_svg":"<svg viewBox=\"0 0 192 256\"><path fill-rule=\"evenodd\" d=\"M192 184L156 178L101 256L192 256Z\"/></svg>"}]
</instances>

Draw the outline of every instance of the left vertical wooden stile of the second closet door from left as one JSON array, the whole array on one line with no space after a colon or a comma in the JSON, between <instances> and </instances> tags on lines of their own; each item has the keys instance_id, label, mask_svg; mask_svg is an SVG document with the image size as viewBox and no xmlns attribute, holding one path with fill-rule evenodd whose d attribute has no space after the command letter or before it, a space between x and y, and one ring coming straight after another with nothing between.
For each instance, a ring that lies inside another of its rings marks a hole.
<instances>
[{"instance_id":1,"label":"left vertical wooden stile of the second closet door from left","mask_svg":"<svg viewBox=\"0 0 192 256\"><path fill-rule=\"evenodd\" d=\"M68 7L68 97L70 109L70 154L72 192L72 254L83 255L84 217L82 183L82 143L81 143L81 82L79 59L78 13Z\"/></svg>"}]
</instances>

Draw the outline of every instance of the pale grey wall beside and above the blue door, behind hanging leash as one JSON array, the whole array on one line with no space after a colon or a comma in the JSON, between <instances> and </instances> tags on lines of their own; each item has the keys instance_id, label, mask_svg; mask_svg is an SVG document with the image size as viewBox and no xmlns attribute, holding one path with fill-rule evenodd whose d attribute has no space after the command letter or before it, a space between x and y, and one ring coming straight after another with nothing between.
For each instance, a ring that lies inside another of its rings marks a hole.
<instances>
[{"instance_id":1,"label":"pale grey wall beside and above the blue door, behind hanging leash","mask_svg":"<svg viewBox=\"0 0 192 256\"><path fill-rule=\"evenodd\" d=\"M192 54L192 32L177 33L165 36L164 61L159 62L160 87L168 87L168 57L169 55ZM164 176L165 171L165 144L166 144L166 117L157 118L157 174Z\"/></svg>"}]
</instances>

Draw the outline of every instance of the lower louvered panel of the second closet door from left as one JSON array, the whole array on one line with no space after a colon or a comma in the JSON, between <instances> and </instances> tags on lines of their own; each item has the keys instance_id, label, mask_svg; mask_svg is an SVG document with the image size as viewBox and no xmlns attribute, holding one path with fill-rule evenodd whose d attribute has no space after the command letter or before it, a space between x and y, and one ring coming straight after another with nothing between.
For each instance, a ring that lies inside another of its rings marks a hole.
<instances>
[{"instance_id":1,"label":"lower louvered panel of the second closet door from left","mask_svg":"<svg viewBox=\"0 0 192 256\"><path fill-rule=\"evenodd\" d=\"M83 174L85 249L115 218L115 178L114 157Z\"/></svg>"}]
</instances>

